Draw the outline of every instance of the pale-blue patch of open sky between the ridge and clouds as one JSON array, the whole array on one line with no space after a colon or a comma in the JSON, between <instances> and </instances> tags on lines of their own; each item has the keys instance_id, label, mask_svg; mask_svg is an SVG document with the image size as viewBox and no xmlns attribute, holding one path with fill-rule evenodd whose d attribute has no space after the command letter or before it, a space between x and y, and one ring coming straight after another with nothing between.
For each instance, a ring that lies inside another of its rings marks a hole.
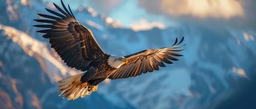
<instances>
[{"instance_id":1,"label":"pale-blue patch of open sky between the ridge and clouds","mask_svg":"<svg viewBox=\"0 0 256 109\"><path fill-rule=\"evenodd\" d=\"M44 0L52 2L52 0ZM93 2L92 0L76 0L77 2L65 1L65 4L69 4L73 10L80 6L92 7L98 14L104 14L111 17L114 20L118 20L122 23L124 27L130 27L132 23L136 23L140 20L146 20L149 23L159 22L167 26L176 25L175 21L170 20L170 18L165 15L157 15L154 13L149 13L145 8L139 6L139 0L112 0L113 2L118 2L112 7L102 7L102 2L99 4ZM109 0L111 1L111 0ZM96 0L97 2L97 0ZM59 2L54 1L56 4ZM108 11L105 11L108 10Z\"/></svg>"}]
</instances>

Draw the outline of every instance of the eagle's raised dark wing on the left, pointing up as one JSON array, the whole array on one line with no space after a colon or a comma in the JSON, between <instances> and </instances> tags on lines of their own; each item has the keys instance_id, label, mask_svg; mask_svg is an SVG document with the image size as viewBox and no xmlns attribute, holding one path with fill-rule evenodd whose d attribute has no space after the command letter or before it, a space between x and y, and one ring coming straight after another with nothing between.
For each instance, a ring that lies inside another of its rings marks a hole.
<instances>
[{"instance_id":1,"label":"eagle's raised dark wing on the left, pointing up","mask_svg":"<svg viewBox=\"0 0 256 109\"><path fill-rule=\"evenodd\" d=\"M67 63L68 67L86 71L96 61L108 54L104 53L100 48L91 30L78 23L69 5L68 11L62 0L61 3L65 11L56 4L53 4L62 14L46 9L55 16L38 14L48 19L38 19L35 21L47 24L34 26L48 28L37 32L45 34L43 37L49 39L51 47Z\"/></svg>"}]
</instances>

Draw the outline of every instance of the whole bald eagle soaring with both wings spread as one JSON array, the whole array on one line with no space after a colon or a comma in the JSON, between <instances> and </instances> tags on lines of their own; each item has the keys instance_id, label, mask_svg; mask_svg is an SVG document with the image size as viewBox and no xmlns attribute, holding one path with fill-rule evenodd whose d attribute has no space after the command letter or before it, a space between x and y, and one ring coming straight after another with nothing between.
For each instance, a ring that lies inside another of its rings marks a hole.
<instances>
[{"instance_id":1,"label":"whole bald eagle soaring with both wings spread","mask_svg":"<svg viewBox=\"0 0 256 109\"><path fill-rule=\"evenodd\" d=\"M136 77L160 67L166 67L164 63L172 64L178 59L173 56L183 56L174 52L181 51L176 38L170 47L143 50L127 56L115 56L105 53L94 39L92 31L80 24L74 17L70 7L68 9L61 0L63 9L53 3L60 13L46 9L52 15L38 14L48 19L37 19L35 21L47 23L33 25L35 27L47 28L37 32L44 33L42 37L49 39L51 47L57 52L68 67L81 70L84 73L58 81L58 90L63 98L68 100L77 99L79 96L91 94L98 89L98 84L104 79L125 79Z\"/></svg>"}]
</instances>

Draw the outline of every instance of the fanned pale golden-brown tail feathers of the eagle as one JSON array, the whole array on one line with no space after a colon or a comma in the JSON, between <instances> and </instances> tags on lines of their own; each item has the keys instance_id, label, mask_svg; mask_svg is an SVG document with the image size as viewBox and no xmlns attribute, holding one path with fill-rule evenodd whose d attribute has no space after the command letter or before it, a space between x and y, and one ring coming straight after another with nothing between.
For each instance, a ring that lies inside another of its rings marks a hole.
<instances>
[{"instance_id":1,"label":"fanned pale golden-brown tail feathers of the eagle","mask_svg":"<svg viewBox=\"0 0 256 109\"><path fill-rule=\"evenodd\" d=\"M70 99L77 99L79 96L82 98L85 95L89 95L94 91L97 91L98 85L90 85L85 83L81 83L81 77L84 75L84 73L77 74L71 77L68 77L66 79L62 79L58 81L57 87L58 90L61 90L62 92L59 94L63 95L63 99L68 96L68 100Z\"/></svg>"}]
</instances>

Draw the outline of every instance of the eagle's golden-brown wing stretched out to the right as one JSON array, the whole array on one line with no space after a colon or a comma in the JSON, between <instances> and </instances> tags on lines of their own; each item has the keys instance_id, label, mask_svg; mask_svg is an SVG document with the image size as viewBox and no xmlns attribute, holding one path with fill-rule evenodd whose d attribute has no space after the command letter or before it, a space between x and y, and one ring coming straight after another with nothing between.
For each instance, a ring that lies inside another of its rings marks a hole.
<instances>
[{"instance_id":1,"label":"eagle's golden-brown wing stretched out to the right","mask_svg":"<svg viewBox=\"0 0 256 109\"><path fill-rule=\"evenodd\" d=\"M176 54L173 52L182 51L178 48L182 46L177 46L183 42L182 40L177 44L178 39L174 45L171 47L152 49L152 50L143 50L135 54L125 56L128 59L127 64L123 64L115 73L109 76L109 79L124 79L128 77L136 77L137 75L145 74L147 72L153 72L153 70L159 70L160 67L166 67L164 63L172 64L172 61L178 59L172 56L183 56L181 54ZM176 45L177 44L177 45ZM164 62L164 63L163 63Z\"/></svg>"}]
</instances>

